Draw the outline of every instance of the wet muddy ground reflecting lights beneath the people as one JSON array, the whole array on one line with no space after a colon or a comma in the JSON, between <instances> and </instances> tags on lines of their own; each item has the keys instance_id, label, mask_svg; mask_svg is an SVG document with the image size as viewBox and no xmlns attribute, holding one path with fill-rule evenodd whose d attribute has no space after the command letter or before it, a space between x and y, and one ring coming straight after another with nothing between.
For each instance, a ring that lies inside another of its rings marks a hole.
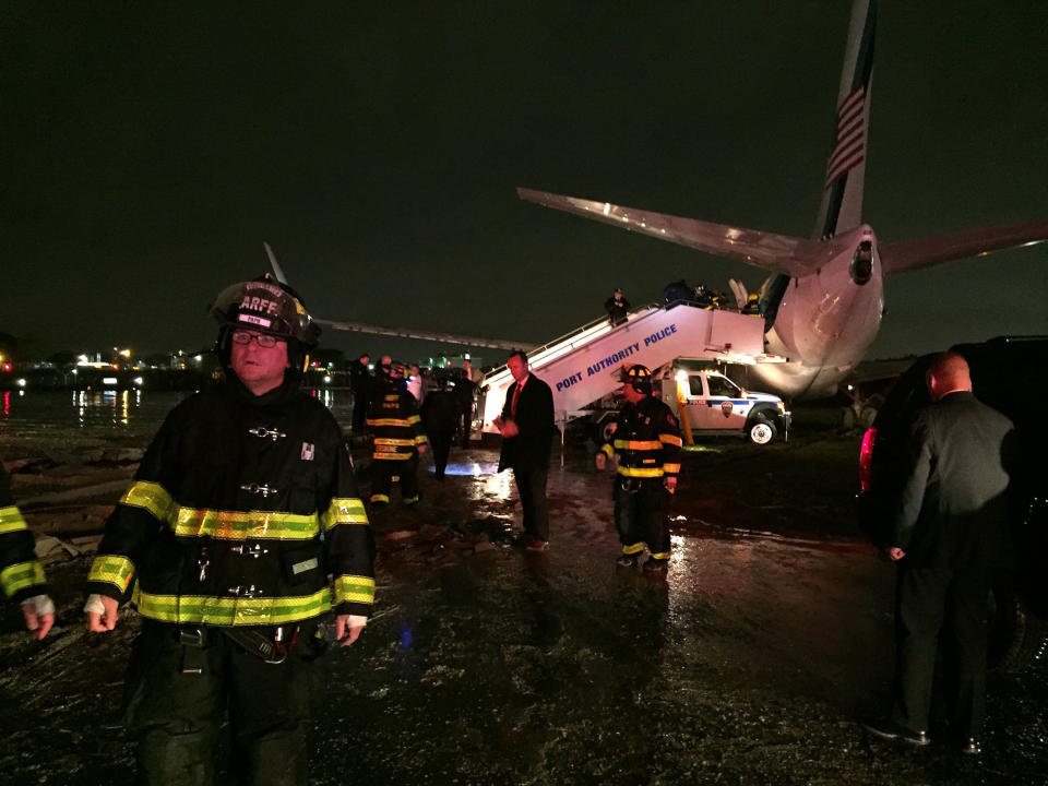
<instances>
[{"instance_id":1,"label":"wet muddy ground reflecting lights beneath the people","mask_svg":"<svg viewBox=\"0 0 1048 786\"><path fill-rule=\"evenodd\" d=\"M418 509L394 497L372 516L376 615L330 657L312 783L1048 783L1044 664L991 675L978 758L858 724L888 690L893 573L854 523L859 436L831 424L801 410L786 443L689 452L665 581L615 567L610 475L585 445L555 458L541 555L511 545L495 449L454 451L442 483L427 464ZM136 619L86 634L80 583L134 455L25 453L5 458L26 519L57 536L40 540L59 624L37 643L2 609L0 783L130 784Z\"/></svg>"}]
</instances>

